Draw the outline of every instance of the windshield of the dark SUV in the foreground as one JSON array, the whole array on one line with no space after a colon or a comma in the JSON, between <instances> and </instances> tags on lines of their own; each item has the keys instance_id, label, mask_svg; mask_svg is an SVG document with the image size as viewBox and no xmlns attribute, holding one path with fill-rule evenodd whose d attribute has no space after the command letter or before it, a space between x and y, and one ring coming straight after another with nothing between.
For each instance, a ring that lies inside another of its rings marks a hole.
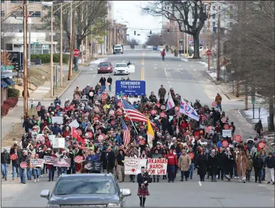
<instances>
[{"instance_id":1,"label":"windshield of the dark SUV in the foreground","mask_svg":"<svg viewBox=\"0 0 275 208\"><path fill-rule=\"evenodd\" d=\"M55 190L55 195L70 195L70 194L107 194L115 195L116 187L112 180L99 177L82 177L73 179L58 180Z\"/></svg>"}]
</instances>

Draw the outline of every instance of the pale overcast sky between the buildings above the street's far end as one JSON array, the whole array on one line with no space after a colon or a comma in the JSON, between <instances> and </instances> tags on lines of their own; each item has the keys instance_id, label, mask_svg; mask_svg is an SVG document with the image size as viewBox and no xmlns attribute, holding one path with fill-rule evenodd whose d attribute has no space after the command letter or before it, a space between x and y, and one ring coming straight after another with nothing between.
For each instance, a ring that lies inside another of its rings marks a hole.
<instances>
[{"instance_id":1,"label":"pale overcast sky between the buildings above the street's far end","mask_svg":"<svg viewBox=\"0 0 275 208\"><path fill-rule=\"evenodd\" d=\"M161 17L141 15L141 6L145 6L147 3L148 1L114 1L114 19L118 23L126 24L128 38L139 40L141 44L147 40L151 29L152 33L161 32ZM136 31L136 35L134 35L134 31Z\"/></svg>"}]
</instances>

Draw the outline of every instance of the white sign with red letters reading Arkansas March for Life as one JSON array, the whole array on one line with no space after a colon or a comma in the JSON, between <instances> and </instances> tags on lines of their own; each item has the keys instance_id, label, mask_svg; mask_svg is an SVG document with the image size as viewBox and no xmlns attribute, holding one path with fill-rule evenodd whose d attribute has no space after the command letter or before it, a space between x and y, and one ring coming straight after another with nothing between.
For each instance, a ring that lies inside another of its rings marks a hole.
<instances>
[{"instance_id":1,"label":"white sign with red letters reading Arkansas March for Life","mask_svg":"<svg viewBox=\"0 0 275 208\"><path fill-rule=\"evenodd\" d=\"M147 159L147 168L149 169L149 175L166 175L167 159Z\"/></svg>"}]
</instances>

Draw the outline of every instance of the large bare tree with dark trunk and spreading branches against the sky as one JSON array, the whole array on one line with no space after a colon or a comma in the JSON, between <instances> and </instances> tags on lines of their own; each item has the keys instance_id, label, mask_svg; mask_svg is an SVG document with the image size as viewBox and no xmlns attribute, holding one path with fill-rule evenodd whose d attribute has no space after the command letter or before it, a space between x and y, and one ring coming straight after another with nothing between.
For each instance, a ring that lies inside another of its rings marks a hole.
<instances>
[{"instance_id":1,"label":"large bare tree with dark trunk and spreading branches against the sky","mask_svg":"<svg viewBox=\"0 0 275 208\"><path fill-rule=\"evenodd\" d=\"M171 10L163 6L165 3L170 4ZM150 1L142 10L144 14L176 21L179 27L177 31L193 35L193 58L199 58L199 33L207 19L206 5L202 1Z\"/></svg>"}]
</instances>

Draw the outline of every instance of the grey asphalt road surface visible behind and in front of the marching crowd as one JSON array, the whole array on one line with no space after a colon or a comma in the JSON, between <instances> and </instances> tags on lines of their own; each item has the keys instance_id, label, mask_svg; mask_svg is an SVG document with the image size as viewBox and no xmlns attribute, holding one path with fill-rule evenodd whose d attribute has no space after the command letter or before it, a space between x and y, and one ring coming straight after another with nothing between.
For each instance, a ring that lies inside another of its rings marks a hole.
<instances>
[{"instance_id":1,"label":"grey asphalt road surface visible behind and in front of the marching crowd","mask_svg":"<svg viewBox=\"0 0 275 208\"><path fill-rule=\"evenodd\" d=\"M194 102L199 99L202 104L211 105L215 100L218 87L211 82L206 75L206 67L203 64L184 62L172 55L167 55L166 60L161 61L159 51L125 51L121 55L109 55L108 62L116 64L118 62L134 62L135 73L130 74L131 80L145 80L146 93L157 94L160 85L168 91L170 87L175 89L181 97ZM73 90L76 86L81 89L87 84L95 86L100 80L101 74L97 73L97 64L89 67L82 67L82 74L75 80L69 89L61 97L62 103L68 98L71 100ZM115 80L121 76L114 76L111 94L114 94ZM105 76L109 76L105 74ZM127 78L127 76L125 76ZM246 140L254 135L254 130L249 123L239 114L238 110L244 107L241 101L230 101L222 95L222 107L229 115L229 120L236 125L236 134L242 135ZM34 184L27 181L20 184L19 180L11 180L11 171L8 174L8 181L1 184L1 207L46 207L46 199L39 198L39 193L43 189L52 190L55 182L47 182L44 175L40 182ZM159 183L150 184L151 196L146 200L147 207L274 207L274 186L270 184L256 184L254 177L251 182L239 183L233 179L228 183L225 181L198 182L197 171L193 180L180 182L179 176L175 183L168 183L161 180ZM132 191L132 196L125 198L127 207L139 207L139 198L136 196L137 184L127 182L121 183L121 188L128 188Z\"/></svg>"}]
</instances>

